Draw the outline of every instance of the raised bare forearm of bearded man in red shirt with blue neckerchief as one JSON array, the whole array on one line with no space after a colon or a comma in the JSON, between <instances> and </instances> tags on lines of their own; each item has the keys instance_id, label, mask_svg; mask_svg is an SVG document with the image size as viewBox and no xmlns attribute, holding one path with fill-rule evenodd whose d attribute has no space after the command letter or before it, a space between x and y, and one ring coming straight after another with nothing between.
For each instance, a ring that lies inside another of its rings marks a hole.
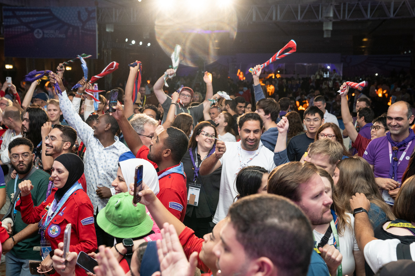
<instances>
[{"instance_id":1,"label":"raised bare forearm of bearded man in red shirt with blue neckerchief","mask_svg":"<svg viewBox=\"0 0 415 276\"><path fill-rule=\"evenodd\" d=\"M128 148L132 151L134 155L137 155L139 149L143 146L143 142L140 139L140 136L132 128L131 124L127 120L124 114L124 109L122 106L114 106L115 111L110 113L112 117L117 120L118 125L120 126L121 132L124 134L125 142L127 143Z\"/></svg>"}]
</instances>

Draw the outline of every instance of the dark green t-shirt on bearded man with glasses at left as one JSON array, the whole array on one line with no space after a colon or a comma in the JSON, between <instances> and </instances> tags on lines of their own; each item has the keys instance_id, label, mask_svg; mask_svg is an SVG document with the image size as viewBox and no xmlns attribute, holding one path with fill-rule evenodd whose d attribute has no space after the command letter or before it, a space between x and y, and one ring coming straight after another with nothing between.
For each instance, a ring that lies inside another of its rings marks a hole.
<instances>
[{"instance_id":1,"label":"dark green t-shirt on bearded man with glasses at left","mask_svg":"<svg viewBox=\"0 0 415 276\"><path fill-rule=\"evenodd\" d=\"M32 181L33 190L31 191L31 194L35 206L39 206L45 200L49 177L50 175L43 170L35 169L32 175L27 178L27 180ZM17 179L16 190L22 180L26 179ZM11 197L11 194L14 194L15 192L15 179L11 179L7 182L6 192L10 202L12 202L13 198ZM26 226L27 224L22 221L22 215L19 211L17 211L15 216L15 225L13 226L13 234L19 233ZM10 252L20 259L41 260L40 234L36 234L22 240L17 243Z\"/></svg>"}]
</instances>

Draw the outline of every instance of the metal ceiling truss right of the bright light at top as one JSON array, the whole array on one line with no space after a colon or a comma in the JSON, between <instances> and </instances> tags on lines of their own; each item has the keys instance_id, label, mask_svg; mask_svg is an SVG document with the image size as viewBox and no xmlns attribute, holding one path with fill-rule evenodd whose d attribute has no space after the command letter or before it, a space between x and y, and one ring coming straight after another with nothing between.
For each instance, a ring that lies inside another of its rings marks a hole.
<instances>
[{"instance_id":1,"label":"metal ceiling truss right of the bright light at top","mask_svg":"<svg viewBox=\"0 0 415 276\"><path fill-rule=\"evenodd\" d=\"M324 22L413 17L415 17L414 1L402 0L252 5L246 16L240 16L239 20L246 23Z\"/></svg>"}]
</instances>

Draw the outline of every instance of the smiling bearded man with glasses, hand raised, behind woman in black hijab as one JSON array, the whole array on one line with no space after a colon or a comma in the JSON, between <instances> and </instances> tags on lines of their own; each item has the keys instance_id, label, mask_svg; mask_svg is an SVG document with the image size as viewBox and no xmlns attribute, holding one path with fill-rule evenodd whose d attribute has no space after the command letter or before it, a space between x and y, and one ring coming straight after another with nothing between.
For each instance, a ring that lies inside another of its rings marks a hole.
<instances>
[{"instance_id":1,"label":"smiling bearded man with glasses, hand raised, behind woman in black hijab","mask_svg":"<svg viewBox=\"0 0 415 276\"><path fill-rule=\"evenodd\" d=\"M72 152L76 141L76 130L68 125L55 125L52 128L51 122L45 122L42 127L42 137L44 138L44 146L42 146L43 168L50 170L56 157ZM85 174L82 174L78 181L86 192ZM53 182L50 183L50 187L48 186L48 193L52 189L51 184Z\"/></svg>"}]
</instances>

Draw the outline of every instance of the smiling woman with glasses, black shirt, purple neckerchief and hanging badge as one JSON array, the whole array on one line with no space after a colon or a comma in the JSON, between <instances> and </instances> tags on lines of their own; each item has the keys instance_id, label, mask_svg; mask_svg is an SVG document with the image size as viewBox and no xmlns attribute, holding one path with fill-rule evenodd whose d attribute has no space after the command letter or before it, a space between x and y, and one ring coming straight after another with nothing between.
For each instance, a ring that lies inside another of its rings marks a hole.
<instances>
[{"instance_id":1,"label":"smiling woman with glasses, black shirt, purple neckerchief and hanging badge","mask_svg":"<svg viewBox=\"0 0 415 276\"><path fill-rule=\"evenodd\" d=\"M198 123L190 137L188 151L182 158L188 191L188 205L183 223L193 229L199 238L210 233L209 223L212 222L219 201L222 167L210 175L199 174L202 161L215 152L216 137L216 129L210 122Z\"/></svg>"}]
</instances>

